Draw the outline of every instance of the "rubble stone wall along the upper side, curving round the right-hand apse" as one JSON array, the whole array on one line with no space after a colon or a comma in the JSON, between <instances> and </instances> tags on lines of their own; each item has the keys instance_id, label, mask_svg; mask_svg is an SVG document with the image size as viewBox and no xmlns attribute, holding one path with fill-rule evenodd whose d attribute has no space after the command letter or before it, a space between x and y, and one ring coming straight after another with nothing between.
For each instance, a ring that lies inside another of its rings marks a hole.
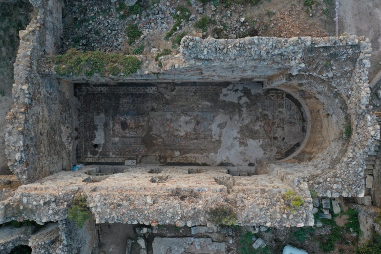
<instances>
[{"instance_id":1,"label":"rubble stone wall along the upper side, curving round the right-hand apse","mask_svg":"<svg viewBox=\"0 0 381 254\"><path fill-rule=\"evenodd\" d=\"M238 40L187 36L179 55L160 59L161 69L143 66L130 77L64 79L109 84L132 80L251 80L264 81L269 88L294 93L301 90L307 97L300 100L311 105L313 128L299 157L274 167L287 171L290 182L308 180L310 189L320 196L362 196L364 159L374 150L374 141L380 135L369 105L370 52L368 39L352 35ZM44 65L40 71L57 77L53 67ZM343 137L346 126L352 129L349 139ZM300 159L301 154L304 159Z\"/></svg>"}]
</instances>

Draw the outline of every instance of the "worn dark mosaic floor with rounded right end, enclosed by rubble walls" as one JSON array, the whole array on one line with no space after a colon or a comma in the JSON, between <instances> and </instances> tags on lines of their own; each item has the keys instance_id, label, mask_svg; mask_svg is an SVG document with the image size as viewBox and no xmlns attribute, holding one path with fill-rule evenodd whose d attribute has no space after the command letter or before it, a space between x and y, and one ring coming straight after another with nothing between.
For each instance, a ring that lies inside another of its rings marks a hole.
<instances>
[{"instance_id":1,"label":"worn dark mosaic floor with rounded right end, enclosed by rubble walls","mask_svg":"<svg viewBox=\"0 0 381 254\"><path fill-rule=\"evenodd\" d=\"M305 113L261 83L76 84L77 159L254 166L303 142Z\"/></svg>"}]
</instances>

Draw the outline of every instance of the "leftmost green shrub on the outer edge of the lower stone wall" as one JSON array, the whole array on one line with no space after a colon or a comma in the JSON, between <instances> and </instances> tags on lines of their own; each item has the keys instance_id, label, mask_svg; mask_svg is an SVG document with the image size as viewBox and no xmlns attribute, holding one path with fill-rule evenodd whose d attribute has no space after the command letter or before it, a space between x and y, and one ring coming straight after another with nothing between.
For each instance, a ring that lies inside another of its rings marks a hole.
<instances>
[{"instance_id":1,"label":"leftmost green shrub on the outer edge of the lower stone wall","mask_svg":"<svg viewBox=\"0 0 381 254\"><path fill-rule=\"evenodd\" d=\"M68 218L75 221L80 229L85 226L86 221L91 218L91 212L87 208L86 195L79 194L71 201Z\"/></svg>"}]
</instances>

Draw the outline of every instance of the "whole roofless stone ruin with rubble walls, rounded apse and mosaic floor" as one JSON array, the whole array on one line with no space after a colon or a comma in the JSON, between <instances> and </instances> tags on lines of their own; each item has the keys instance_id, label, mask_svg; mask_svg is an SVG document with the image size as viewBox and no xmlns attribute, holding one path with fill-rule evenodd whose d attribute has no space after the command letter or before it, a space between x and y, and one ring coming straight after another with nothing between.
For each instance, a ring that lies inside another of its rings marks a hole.
<instances>
[{"instance_id":1,"label":"whole roofless stone ruin with rubble walls, rounded apse and mosaic floor","mask_svg":"<svg viewBox=\"0 0 381 254\"><path fill-rule=\"evenodd\" d=\"M30 2L39 16L20 31L6 117L8 166L23 185L1 193L0 223L55 224L0 248L92 253L96 224L212 227L221 206L237 225L312 226L311 191L367 195L365 160L380 136L368 39L186 36L161 68L60 76L49 57L63 1ZM292 207L287 191L303 202ZM67 219L79 194L94 218L80 231Z\"/></svg>"}]
</instances>

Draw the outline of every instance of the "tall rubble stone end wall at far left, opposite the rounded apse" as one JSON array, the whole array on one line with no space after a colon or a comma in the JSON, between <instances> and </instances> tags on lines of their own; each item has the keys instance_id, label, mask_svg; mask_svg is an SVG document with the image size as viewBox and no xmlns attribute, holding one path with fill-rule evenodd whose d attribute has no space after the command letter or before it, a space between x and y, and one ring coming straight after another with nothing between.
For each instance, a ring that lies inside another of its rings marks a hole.
<instances>
[{"instance_id":1,"label":"tall rubble stone end wall at far left, opposite the rounded apse","mask_svg":"<svg viewBox=\"0 0 381 254\"><path fill-rule=\"evenodd\" d=\"M8 166L24 184L72 167L71 85L37 73L39 60L59 46L62 1L31 2L40 16L20 31L6 117Z\"/></svg>"}]
</instances>

